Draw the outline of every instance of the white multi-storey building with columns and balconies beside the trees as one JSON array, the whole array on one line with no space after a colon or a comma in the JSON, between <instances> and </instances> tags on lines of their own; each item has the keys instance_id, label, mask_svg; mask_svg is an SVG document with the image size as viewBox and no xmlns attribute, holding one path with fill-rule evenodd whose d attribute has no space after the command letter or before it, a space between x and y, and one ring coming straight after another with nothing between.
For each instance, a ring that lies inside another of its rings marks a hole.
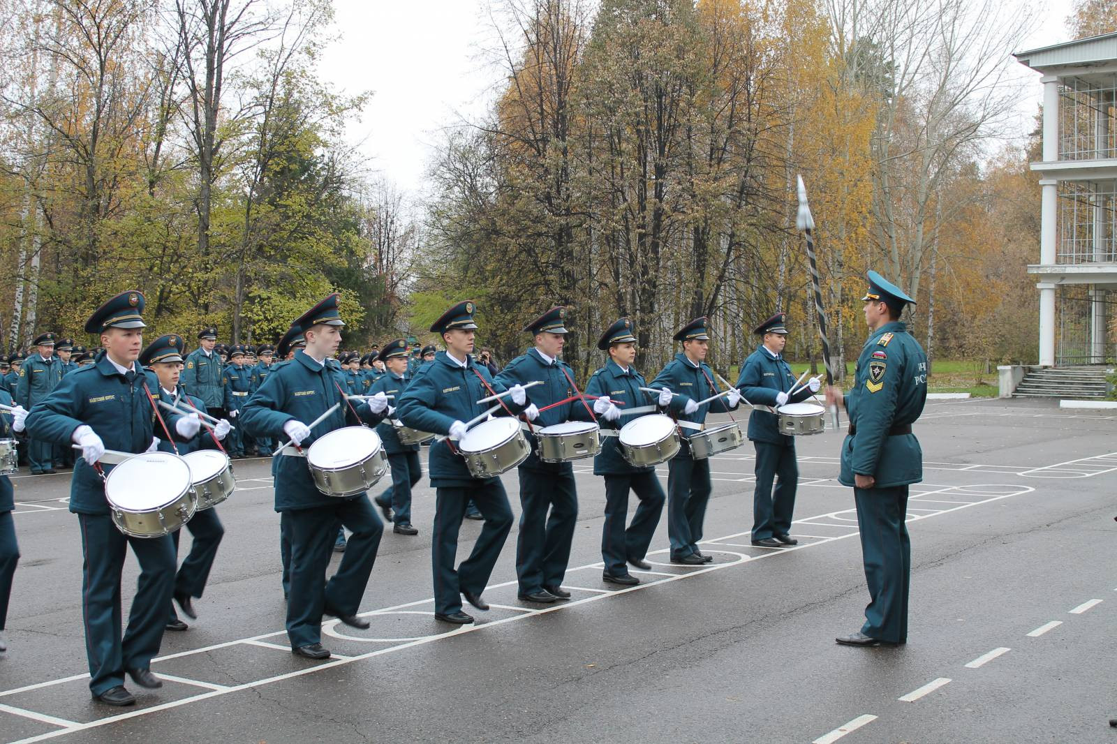
<instances>
[{"instance_id":1,"label":"white multi-storey building with columns and balconies beside the trees","mask_svg":"<svg viewBox=\"0 0 1117 744\"><path fill-rule=\"evenodd\" d=\"M1113 362L1117 305L1117 34L1021 51L1043 77L1040 365Z\"/></svg>"}]
</instances>

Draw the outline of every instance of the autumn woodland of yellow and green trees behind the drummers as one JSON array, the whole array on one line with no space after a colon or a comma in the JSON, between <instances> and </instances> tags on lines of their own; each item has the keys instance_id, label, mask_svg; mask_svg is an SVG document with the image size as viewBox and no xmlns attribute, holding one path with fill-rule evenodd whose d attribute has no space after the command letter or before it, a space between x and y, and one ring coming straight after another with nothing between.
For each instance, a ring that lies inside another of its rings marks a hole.
<instances>
[{"instance_id":1,"label":"autumn woodland of yellow and green trees behind the drummers","mask_svg":"<svg viewBox=\"0 0 1117 744\"><path fill-rule=\"evenodd\" d=\"M1110 4L1076 29L1109 30ZM697 315L725 364L776 311L818 359L802 173L838 368L867 268L918 299L932 357L1035 360L1038 133L1010 124L1037 83L1001 0L495 0L499 95L447 130L422 199L341 144L367 94L316 70L328 0L0 9L8 351L132 287L155 333L274 341L333 288L353 347L472 298L502 359L569 305L580 373L620 315L649 369Z\"/></svg>"}]
</instances>

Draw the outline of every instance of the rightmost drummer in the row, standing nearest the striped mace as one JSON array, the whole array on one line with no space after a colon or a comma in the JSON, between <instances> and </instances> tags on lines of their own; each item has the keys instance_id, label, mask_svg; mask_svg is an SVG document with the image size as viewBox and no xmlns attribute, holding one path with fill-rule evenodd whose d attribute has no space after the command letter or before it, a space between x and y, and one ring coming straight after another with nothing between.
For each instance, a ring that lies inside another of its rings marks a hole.
<instances>
[{"instance_id":1,"label":"rightmost drummer in the row, standing nearest the striped mace","mask_svg":"<svg viewBox=\"0 0 1117 744\"><path fill-rule=\"evenodd\" d=\"M761 347L741 365L737 388L750 403L780 408L810 398L819 390L818 378L790 395L795 375L783 361L787 343L786 315L776 313L753 328L761 336ZM795 464L795 438L780 433L780 417L767 411L748 414L748 439L756 450L756 488L753 490L753 545L783 547L798 545L790 535L795 511L799 466ZM779 480L776 480L779 477ZM775 490L772 484L775 481Z\"/></svg>"}]
</instances>

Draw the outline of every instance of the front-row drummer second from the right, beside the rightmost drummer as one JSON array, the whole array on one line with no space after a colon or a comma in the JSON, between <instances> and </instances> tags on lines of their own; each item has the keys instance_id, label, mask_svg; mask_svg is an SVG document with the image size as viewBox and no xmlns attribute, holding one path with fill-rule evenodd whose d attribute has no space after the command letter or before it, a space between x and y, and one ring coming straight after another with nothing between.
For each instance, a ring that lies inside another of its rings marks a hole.
<instances>
[{"instance_id":1,"label":"front-row drummer second from the right, beside the rightmost drummer","mask_svg":"<svg viewBox=\"0 0 1117 744\"><path fill-rule=\"evenodd\" d=\"M661 390L660 406L667 406L677 420L689 421L701 427L706 413L716 411L728 413L737 408L741 393L731 389L724 398L698 404L720 392L714 382L714 372L706 364L709 349L708 319L698 317L675 334L682 342L682 352L667 363L648 385ZM677 394L670 395L670 392ZM713 484L709 479L709 458L694 459L690 456L690 437L694 429L679 429L681 447L678 455L667 464L667 534L671 542L671 563L698 565L714 560L698 550L703 525L706 521L706 505Z\"/></svg>"}]
</instances>

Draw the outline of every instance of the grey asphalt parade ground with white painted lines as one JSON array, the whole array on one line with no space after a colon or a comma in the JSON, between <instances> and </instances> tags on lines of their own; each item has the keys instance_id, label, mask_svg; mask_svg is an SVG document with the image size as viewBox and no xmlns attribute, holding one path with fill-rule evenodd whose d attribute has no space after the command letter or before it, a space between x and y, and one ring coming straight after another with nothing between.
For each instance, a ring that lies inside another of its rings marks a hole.
<instances>
[{"instance_id":1,"label":"grey asphalt parade ground with white painted lines","mask_svg":"<svg viewBox=\"0 0 1117 744\"><path fill-rule=\"evenodd\" d=\"M868 602L839 432L798 440L798 546L750 545L746 442L712 461L701 549L715 562L668 562L665 511L633 588L601 581L603 483L576 462L573 598L517 600L514 526L484 593L491 610L467 607L478 622L461 628L432 616L424 477L420 534L389 527L381 542L361 604L372 627L330 619L324 662L294 657L284 632L269 461L238 460L199 618L164 636L152 665L164 686L128 685L133 708L89 698L69 474L21 473L0 741L1117 742L1117 416L933 401L915 431L905 646L833 640ZM515 470L504 483L518 514ZM464 524L459 556L479 526ZM130 554L125 609L135 576Z\"/></svg>"}]
</instances>

